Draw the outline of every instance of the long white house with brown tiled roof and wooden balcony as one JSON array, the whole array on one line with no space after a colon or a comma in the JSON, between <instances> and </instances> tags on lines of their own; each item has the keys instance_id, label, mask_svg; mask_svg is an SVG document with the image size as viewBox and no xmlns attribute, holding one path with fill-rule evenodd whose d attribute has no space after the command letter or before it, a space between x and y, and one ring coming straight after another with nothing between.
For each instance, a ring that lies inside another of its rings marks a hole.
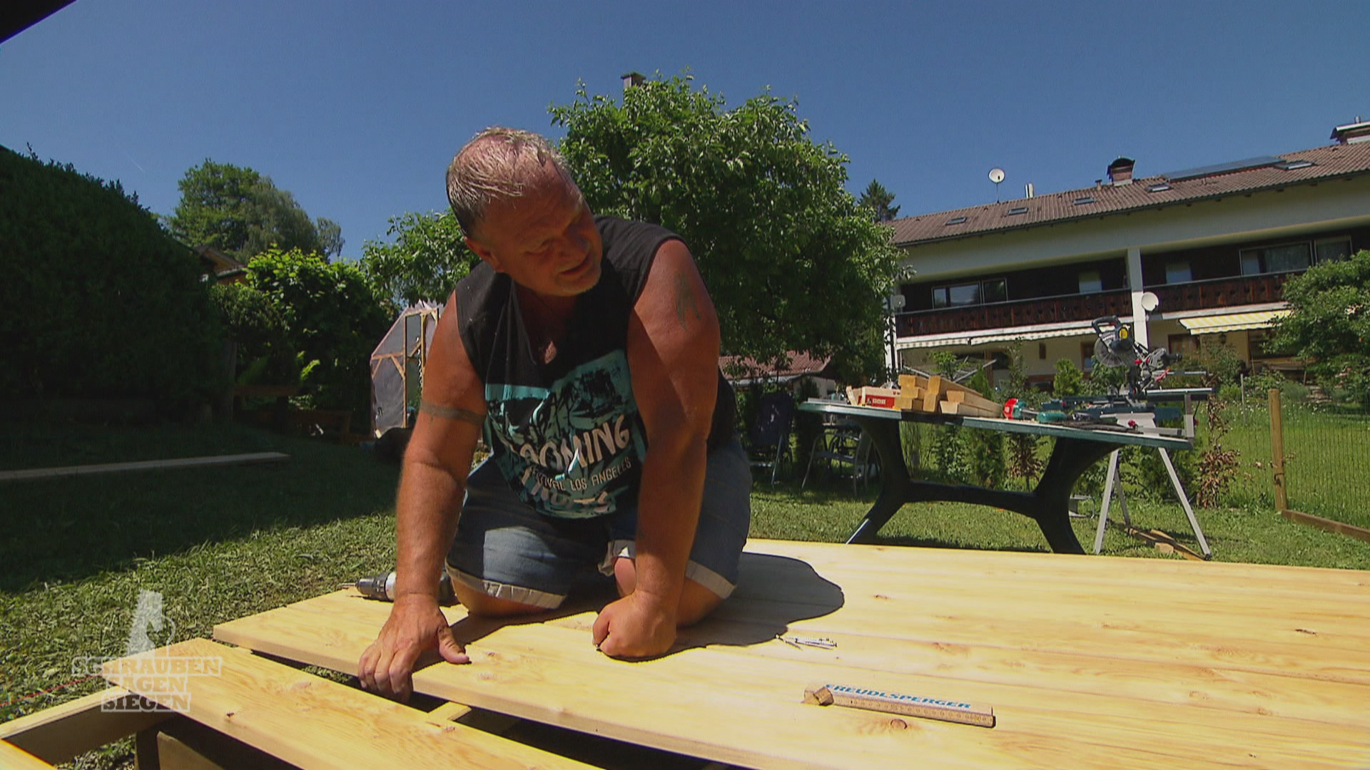
<instances>
[{"instance_id":1,"label":"long white house with brown tiled roof and wooden balcony","mask_svg":"<svg viewBox=\"0 0 1370 770\"><path fill-rule=\"evenodd\" d=\"M1118 158L1092 186L896 219L915 277L901 286L895 353L929 369L947 349L1000 359L1021 340L1026 374L1089 369L1091 321L1192 353L1230 347L1256 369L1291 275L1370 248L1370 122L1336 144L1136 177ZM1148 312L1148 310L1151 310Z\"/></svg>"}]
</instances>

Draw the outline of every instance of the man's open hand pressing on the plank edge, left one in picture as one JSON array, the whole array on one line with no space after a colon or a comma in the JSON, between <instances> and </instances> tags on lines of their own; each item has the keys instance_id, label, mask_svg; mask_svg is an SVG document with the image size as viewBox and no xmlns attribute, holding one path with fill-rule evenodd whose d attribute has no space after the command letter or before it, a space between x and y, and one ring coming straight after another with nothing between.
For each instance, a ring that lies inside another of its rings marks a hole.
<instances>
[{"instance_id":1,"label":"man's open hand pressing on the plank edge, left one in picture","mask_svg":"<svg viewBox=\"0 0 1370 770\"><path fill-rule=\"evenodd\" d=\"M414 692L414 663L423 652L437 648L448 663L470 663L466 649L456 643L437 600L425 595L400 596L381 634L362 654L358 677L362 686L401 701Z\"/></svg>"}]
</instances>

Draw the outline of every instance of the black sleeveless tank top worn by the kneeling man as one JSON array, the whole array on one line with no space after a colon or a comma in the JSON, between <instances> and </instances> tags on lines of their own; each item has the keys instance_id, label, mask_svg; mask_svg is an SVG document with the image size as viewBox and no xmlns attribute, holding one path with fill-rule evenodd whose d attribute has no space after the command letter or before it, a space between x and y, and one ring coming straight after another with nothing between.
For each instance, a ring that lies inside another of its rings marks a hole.
<instances>
[{"instance_id":1,"label":"black sleeveless tank top worn by the kneeling man","mask_svg":"<svg viewBox=\"0 0 1370 770\"><path fill-rule=\"evenodd\" d=\"M510 488L538 512L588 518L637 501L647 433L627 369L627 321L660 245L675 233L611 216L599 282L575 300L556 358L534 355L514 282L481 263L456 285L458 321L485 385L485 441ZM733 432L736 400L718 374L708 447Z\"/></svg>"}]
</instances>

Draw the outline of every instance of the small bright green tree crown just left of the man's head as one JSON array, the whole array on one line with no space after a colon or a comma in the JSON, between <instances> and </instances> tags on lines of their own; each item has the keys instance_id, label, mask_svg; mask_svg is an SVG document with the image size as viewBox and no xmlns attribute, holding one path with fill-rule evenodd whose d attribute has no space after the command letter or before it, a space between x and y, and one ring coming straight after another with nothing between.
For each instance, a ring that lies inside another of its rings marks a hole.
<instances>
[{"instance_id":1,"label":"small bright green tree crown just left of the man's head","mask_svg":"<svg viewBox=\"0 0 1370 770\"><path fill-rule=\"evenodd\" d=\"M395 303L441 303L480 262L451 211L392 216L385 234L393 241L362 245L360 266L377 296Z\"/></svg>"}]
</instances>

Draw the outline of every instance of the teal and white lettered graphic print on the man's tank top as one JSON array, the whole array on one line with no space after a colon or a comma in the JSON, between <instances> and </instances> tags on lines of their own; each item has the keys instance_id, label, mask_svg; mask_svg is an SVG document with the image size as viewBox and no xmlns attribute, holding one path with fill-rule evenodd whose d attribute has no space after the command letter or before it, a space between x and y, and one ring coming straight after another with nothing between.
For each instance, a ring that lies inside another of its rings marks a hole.
<instances>
[{"instance_id":1,"label":"teal and white lettered graphic print on the man's tank top","mask_svg":"<svg viewBox=\"0 0 1370 770\"><path fill-rule=\"evenodd\" d=\"M486 384L485 403L493 460L538 512L589 518L636 503L647 441L623 351L549 388Z\"/></svg>"}]
</instances>

